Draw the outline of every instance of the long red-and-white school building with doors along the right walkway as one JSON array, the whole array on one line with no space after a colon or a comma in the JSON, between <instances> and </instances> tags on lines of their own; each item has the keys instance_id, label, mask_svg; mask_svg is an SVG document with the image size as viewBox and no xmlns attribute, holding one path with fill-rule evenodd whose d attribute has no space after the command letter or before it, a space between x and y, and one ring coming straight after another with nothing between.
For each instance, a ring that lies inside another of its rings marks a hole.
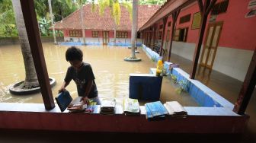
<instances>
[{"instance_id":1,"label":"long red-and-white school building with doors along the right walkway","mask_svg":"<svg viewBox=\"0 0 256 143\"><path fill-rule=\"evenodd\" d=\"M244 81L256 47L255 14L255 1L217 0L207 17L198 60L200 67ZM147 47L154 49L155 43L162 44L165 60L171 49L171 53L193 61L200 22L197 1L169 0L139 28L139 32Z\"/></svg>"}]
</instances>

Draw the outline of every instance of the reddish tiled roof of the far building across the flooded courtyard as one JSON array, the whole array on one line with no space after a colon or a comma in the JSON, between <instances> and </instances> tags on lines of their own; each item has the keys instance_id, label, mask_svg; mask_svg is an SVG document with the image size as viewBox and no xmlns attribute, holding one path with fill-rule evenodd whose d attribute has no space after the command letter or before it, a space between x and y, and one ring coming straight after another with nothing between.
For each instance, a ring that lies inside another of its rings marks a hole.
<instances>
[{"instance_id":1,"label":"reddish tiled roof of the far building across the flooded courtyard","mask_svg":"<svg viewBox=\"0 0 256 143\"><path fill-rule=\"evenodd\" d=\"M131 30L132 21L130 20L130 14L125 7L120 6L121 17L120 25L117 26L117 30ZM138 30L142 25L155 14L155 11L160 8L159 5L138 5ZM68 17L62 21L56 22L56 29L82 29L80 10L74 11ZM99 15L98 7L95 8L95 12L91 11L91 5L84 5L84 24L85 29L91 30L114 30L114 20L110 17L110 10L106 8L103 16Z\"/></svg>"}]
</instances>

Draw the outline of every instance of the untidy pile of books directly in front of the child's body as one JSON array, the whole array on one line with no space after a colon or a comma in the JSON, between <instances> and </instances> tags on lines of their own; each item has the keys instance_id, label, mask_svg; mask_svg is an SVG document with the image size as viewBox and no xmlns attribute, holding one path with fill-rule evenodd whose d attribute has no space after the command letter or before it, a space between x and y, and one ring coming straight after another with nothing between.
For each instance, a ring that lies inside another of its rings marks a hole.
<instances>
[{"instance_id":1,"label":"untidy pile of books directly in front of the child's body","mask_svg":"<svg viewBox=\"0 0 256 143\"><path fill-rule=\"evenodd\" d=\"M69 112L85 111L87 104L85 104L84 101L81 99L82 97L76 97L75 100L72 100L72 102L69 103L67 110L69 110Z\"/></svg>"}]
</instances>

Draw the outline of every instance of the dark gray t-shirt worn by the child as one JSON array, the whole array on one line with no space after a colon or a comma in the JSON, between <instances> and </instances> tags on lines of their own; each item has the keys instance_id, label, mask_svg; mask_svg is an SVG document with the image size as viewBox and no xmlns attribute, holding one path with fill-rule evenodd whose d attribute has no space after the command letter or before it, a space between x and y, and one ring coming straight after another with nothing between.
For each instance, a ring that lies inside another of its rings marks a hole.
<instances>
[{"instance_id":1,"label":"dark gray t-shirt worn by the child","mask_svg":"<svg viewBox=\"0 0 256 143\"><path fill-rule=\"evenodd\" d=\"M88 98L98 97L98 90L94 81L95 78L94 78L93 71L91 69L91 65L88 63L82 62L81 66L82 67L80 71L76 71L75 68L70 66L68 68L64 81L70 82L71 80L74 80L77 87L78 96L85 97L85 87L87 86L88 81L92 80L93 84L91 87L91 91L88 94Z\"/></svg>"}]
</instances>

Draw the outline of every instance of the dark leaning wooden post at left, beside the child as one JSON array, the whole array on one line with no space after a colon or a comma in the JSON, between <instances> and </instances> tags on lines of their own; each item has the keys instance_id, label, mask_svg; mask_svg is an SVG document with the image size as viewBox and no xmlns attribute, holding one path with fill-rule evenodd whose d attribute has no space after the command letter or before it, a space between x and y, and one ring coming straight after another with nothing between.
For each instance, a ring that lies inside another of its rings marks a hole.
<instances>
[{"instance_id":1,"label":"dark leaning wooden post at left, beside the child","mask_svg":"<svg viewBox=\"0 0 256 143\"><path fill-rule=\"evenodd\" d=\"M37 14L34 8L34 0L21 0L21 10L24 16L30 49L37 71L37 78L40 84L41 93L43 96L43 103L46 110L52 110L55 107L55 104L50 87L46 62L43 56L43 47L40 40L40 33L37 24Z\"/></svg>"}]
</instances>

